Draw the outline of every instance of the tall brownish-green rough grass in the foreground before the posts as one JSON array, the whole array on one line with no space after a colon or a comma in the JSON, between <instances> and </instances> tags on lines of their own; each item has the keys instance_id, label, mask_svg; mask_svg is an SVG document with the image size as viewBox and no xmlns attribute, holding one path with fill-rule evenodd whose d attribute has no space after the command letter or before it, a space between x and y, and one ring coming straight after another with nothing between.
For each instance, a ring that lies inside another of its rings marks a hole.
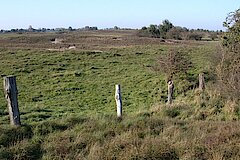
<instances>
[{"instance_id":1,"label":"tall brownish-green rough grass in the foreground before the posts","mask_svg":"<svg viewBox=\"0 0 240 160\"><path fill-rule=\"evenodd\" d=\"M181 112L181 111L180 111ZM183 121L169 111L1 126L1 159L239 159L239 124ZM169 117L169 118L168 118Z\"/></svg>"}]
</instances>

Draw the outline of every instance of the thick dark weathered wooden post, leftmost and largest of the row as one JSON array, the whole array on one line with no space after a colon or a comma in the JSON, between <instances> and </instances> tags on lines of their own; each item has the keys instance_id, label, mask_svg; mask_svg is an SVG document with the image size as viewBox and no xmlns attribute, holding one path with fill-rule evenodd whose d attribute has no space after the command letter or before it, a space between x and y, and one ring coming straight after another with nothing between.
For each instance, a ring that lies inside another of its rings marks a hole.
<instances>
[{"instance_id":1,"label":"thick dark weathered wooden post, leftmost and largest of the row","mask_svg":"<svg viewBox=\"0 0 240 160\"><path fill-rule=\"evenodd\" d=\"M10 116L10 124L20 126L20 114L18 109L17 99L17 85L15 76L4 77L3 80L4 92L8 103L8 110Z\"/></svg>"}]
</instances>

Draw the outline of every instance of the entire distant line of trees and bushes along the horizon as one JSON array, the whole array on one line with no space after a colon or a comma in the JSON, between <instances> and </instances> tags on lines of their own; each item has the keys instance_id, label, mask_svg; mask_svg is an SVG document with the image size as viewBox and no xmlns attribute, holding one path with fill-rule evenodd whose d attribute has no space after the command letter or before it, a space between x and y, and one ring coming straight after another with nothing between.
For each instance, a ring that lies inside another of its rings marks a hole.
<instances>
[{"instance_id":1,"label":"entire distant line of trees and bushes along the horizon","mask_svg":"<svg viewBox=\"0 0 240 160\"><path fill-rule=\"evenodd\" d=\"M0 33L26 33L26 32L56 32L65 33L71 31L96 31L96 26L85 26L83 28L74 29L71 26L68 28L39 28L35 29L31 25L28 29L10 29L0 30ZM131 28L120 28L114 26L113 28L105 28L103 30L132 30ZM204 29L187 29L186 27L174 26L169 20L162 21L159 25L151 24L149 27L142 27L138 30L137 35L140 37L152 37L162 39L176 39L176 40L215 40L222 34L220 31L209 31Z\"/></svg>"}]
</instances>

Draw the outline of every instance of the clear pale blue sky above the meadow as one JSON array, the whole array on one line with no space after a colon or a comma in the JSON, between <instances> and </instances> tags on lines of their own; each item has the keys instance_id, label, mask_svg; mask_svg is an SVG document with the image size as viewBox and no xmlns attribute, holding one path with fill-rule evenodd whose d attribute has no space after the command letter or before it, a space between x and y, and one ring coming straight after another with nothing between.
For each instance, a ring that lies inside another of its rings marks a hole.
<instances>
[{"instance_id":1,"label":"clear pale blue sky above the meadow","mask_svg":"<svg viewBox=\"0 0 240 160\"><path fill-rule=\"evenodd\" d=\"M0 29L141 28L168 19L175 26L220 30L240 0L0 0Z\"/></svg>"}]
</instances>

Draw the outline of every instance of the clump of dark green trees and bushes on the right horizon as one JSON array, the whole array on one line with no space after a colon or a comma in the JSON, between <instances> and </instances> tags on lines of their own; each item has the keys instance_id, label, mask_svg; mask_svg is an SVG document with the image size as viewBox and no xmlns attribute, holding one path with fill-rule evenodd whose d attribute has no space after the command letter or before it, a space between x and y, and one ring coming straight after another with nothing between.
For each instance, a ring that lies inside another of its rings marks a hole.
<instances>
[{"instance_id":1,"label":"clump of dark green trees and bushes on the right horizon","mask_svg":"<svg viewBox=\"0 0 240 160\"><path fill-rule=\"evenodd\" d=\"M209 31L204 29L187 29L186 27L174 26L169 20L164 20L160 25L151 24L142 27L138 36L176 40L215 40L220 31Z\"/></svg>"}]
</instances>

